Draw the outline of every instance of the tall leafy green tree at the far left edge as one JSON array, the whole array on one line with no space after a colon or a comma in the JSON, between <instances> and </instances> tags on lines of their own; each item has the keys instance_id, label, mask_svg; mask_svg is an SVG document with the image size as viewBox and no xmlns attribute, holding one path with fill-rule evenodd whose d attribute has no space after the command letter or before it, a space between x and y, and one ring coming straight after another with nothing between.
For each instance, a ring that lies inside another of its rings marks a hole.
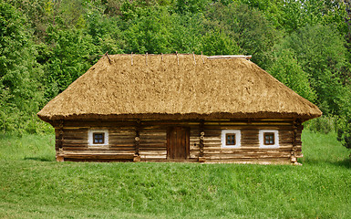
<instances>
[{"instance_id":1,"label":"tall leafy green tree at the far left edge","mask_svg":"<svg viewBox=\"0 0 351 219\"><path fill-rule=\"evenodd\" d=\"M0 130L33 132L28 120L42 101L43 72L28 28L26 16L0 3Z\"/></svg>"}]
</instances>

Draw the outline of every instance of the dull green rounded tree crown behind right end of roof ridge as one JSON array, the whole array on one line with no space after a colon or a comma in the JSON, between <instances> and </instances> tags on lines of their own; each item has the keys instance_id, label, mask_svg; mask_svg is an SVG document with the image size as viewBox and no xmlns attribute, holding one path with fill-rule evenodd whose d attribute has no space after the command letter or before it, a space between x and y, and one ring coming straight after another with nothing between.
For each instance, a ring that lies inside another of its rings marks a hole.
<instances>
[{"instance_id":1,"label":"dull green rounded tree crown behind right end of roof ridge","mask_svg":"<svg viewBox=\"0 0 351 219\"><path fill-rule=\"evenodd\" d=\"M213 4L205 14L208 29L232 39L232 51L240 48L244 55L253 55L253 62L265 68L271 63L271 52L277 34L263 15L247 5Z\"/></svg>"}]
</instances>

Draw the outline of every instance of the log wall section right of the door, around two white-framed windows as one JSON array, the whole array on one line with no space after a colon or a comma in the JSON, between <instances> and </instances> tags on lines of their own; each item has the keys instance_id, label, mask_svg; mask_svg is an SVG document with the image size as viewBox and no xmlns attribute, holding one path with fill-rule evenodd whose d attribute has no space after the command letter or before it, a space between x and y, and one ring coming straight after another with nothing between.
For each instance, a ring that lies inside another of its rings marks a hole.
<instances>
[{"instance_id":1,"label":"log wall section right of the door, around two white-framed windows","mask_svg":"<svg viewBox=\"0 0 351 219\"><path fill-rule=\"evenodd\" d=\"M204 157L206 162L291 163L294 120L256 120L247 122L204 122ZM295 152L301 156L302 125L297 129ZM222 148L222 130L241 130L240 148ZM279 148L260 148L259 130L279 130ZM191 131L193 144L198 144L198 130ZM191 148L191 158L199 157L199 148Z\"/></svg>"}]
</instances>

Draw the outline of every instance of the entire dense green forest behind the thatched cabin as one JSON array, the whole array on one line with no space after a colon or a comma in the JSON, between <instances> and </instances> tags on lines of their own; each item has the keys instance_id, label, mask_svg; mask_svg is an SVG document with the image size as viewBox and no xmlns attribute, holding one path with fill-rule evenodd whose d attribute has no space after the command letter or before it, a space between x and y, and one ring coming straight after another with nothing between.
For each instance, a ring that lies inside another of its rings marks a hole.
<instances>
[{"instance_id":1,"label":"entire dense green forest behind the thatched cabin","mask_svg":"<svg viewBox=\"0 0 351 219\"><path fill-rule=\"evenodd\" d=\"M107 51L252 55L351 147L351 1L1 0L0 129L50 131L37 111Z\"/></svg>"}]
</instances>

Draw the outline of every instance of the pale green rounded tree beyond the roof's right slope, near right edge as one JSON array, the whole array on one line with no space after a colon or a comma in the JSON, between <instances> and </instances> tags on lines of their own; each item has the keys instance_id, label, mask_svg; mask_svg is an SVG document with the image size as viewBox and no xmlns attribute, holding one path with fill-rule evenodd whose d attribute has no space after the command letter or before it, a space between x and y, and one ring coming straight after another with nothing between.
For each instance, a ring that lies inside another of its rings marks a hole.
<instances>
[{"instance_id":1,"label":"pale green rounded tree beyond the roof's right slope, near right edge","mask_svg":"<svg viewBox=\"0 0 351 219\"><path fill-rule=\"evenodd\" d=\"M310 76L316 103L325 114L342 114L351 97L340 80L346 66L345 40L330 26L306 26L285 37L282 47L290 48L302 69Z\"/></svg>"}]
</instances>

